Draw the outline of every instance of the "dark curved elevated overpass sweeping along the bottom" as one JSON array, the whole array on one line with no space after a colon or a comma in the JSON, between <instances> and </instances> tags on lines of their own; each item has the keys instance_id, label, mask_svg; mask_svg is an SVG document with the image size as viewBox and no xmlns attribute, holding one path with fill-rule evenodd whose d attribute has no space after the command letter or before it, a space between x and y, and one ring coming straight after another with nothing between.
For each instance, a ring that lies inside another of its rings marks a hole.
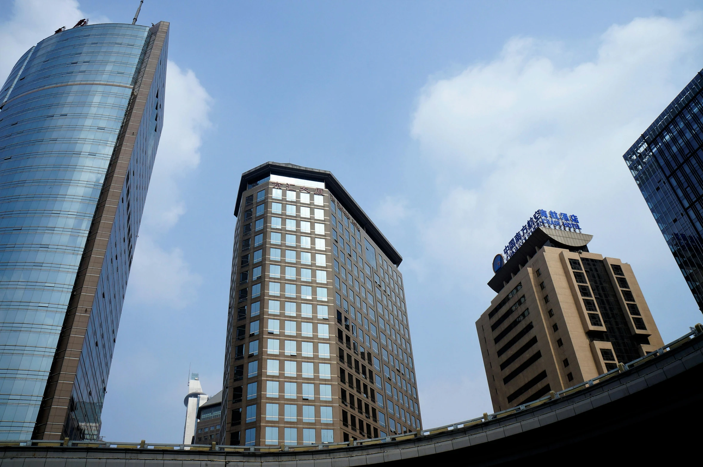
<instances>
[{"instance_id":1,"label":"dark curved elevated overpass sweeping along the bottom","mask_svg":"<svg viewBox=\"0 0 703 467\"><path fill-rule=\"evenodd\" d=\"M699 457L703 326L597 379L417 435L313 446L4 442L0 467L628 465Z\"/></svg>"}]
</instances>

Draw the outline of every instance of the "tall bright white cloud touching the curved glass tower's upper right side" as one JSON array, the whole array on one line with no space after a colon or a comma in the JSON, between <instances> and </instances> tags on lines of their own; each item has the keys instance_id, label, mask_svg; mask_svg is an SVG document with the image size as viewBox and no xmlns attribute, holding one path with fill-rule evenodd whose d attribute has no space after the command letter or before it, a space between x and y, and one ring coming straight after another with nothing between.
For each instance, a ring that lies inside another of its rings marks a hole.
<instances>
[{"instance_id":1,"label":"tall bright white cloud touching the curved glass tower's upper right side","mask_svg":"<svg viewBox=\"0 0 703 467\"><path fill-rule=\"evenodd\" d=\"M142 228L167 230L186 212L179 188L180 181L200 164L202 133L209 121L212 98L193 70L181 70L169 60L166 72L164 129L149 193Z\"/></svg>"}]
</instances>

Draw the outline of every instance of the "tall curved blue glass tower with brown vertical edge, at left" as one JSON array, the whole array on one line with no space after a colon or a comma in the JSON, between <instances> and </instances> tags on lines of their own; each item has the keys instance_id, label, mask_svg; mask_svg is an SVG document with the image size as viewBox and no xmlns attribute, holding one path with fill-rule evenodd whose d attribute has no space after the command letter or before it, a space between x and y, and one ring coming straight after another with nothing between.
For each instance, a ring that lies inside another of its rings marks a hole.
<instances>
[{"instance_id":1,"label":"tall curved blue glass tower with brown vertical edge, at left","mask_svg":"<svg viewBox=\"0 0 703 467\"><path fill-rule=\"evenodd\" d=\"M169 23L59 29L0 90L0 439L96 440Z\"/></svg>"}]
</instances>

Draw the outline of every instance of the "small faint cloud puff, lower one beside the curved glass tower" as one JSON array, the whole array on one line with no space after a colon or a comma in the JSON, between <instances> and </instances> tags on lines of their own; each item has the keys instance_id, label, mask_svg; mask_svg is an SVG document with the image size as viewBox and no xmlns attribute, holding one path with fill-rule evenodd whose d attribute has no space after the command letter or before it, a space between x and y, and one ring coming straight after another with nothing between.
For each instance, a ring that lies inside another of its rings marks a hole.
<instances>
[{"instance_id":1,"label":"small faint cloud puff, lower one beside the curved glass tower","mask_svg":"<svg viewBox=\"0 0 703 467\"><path fill-rule=\"evenodd\" d=\"M183 259L183 251L166 251L149 235L139 235L129 272L132 299L138 303L183 308L202 282Z\"/></svg>"}]
</instances>

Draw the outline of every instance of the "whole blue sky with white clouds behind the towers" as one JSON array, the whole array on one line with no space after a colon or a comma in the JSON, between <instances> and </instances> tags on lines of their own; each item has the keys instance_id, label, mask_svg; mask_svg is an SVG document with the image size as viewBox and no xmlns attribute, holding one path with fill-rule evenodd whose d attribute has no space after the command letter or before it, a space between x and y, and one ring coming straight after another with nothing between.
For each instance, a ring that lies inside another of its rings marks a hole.
<instances>
[{"instance_id":1,"label":"whole blue sky with white clouds behind the towers","mask_svg":"<svg viewBox=\"0 0 703 467\"><path fill-rule=\"evenodd\" d=\"M138 1L0 0L0 76ZM492 412L475 322L536 209L630 263L665 342L702 321L622 154L703 68L699 1L146 0L165 123L103 408L179 442L188 372L222 386L234 204L266 161L332 171L403 256L425 428Z\"/></svg>"}]
</instances>

